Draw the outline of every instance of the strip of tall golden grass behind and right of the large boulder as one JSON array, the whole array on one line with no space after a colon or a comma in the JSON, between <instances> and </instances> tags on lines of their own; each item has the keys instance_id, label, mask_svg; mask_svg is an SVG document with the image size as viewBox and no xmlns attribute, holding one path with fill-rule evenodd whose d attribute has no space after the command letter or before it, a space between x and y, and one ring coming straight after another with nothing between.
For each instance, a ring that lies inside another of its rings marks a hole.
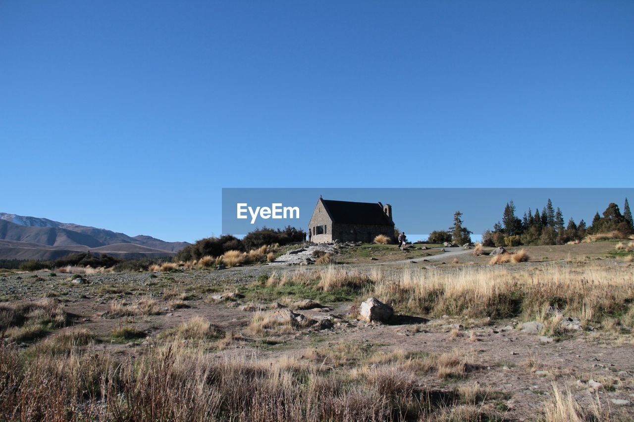
<instances>
[{"instance_id":1,"label":"strip of tall golden grass behind and right of the large boulder","mask_svg":"<svg viewBox=\"0 0 634 422\"><path fill-rule=\"evenodd\" d=\"M510 317L517 306L526 318L552 305L582 321L628 309L634 298L631 274L624 267L545 265L535 272L503 267L407 268L381 274L371 293L382 302L419 314ZM552 298L558 298L557 304Z\"/></svg>"}]
</instances>

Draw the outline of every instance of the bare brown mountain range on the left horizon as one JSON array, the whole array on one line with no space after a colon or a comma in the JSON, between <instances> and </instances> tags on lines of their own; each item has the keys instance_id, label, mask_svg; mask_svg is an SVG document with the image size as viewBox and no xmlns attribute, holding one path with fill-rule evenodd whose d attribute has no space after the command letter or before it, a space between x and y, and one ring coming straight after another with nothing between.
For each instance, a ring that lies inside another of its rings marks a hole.
<instances>
[{"instance_id":1,"label":"bare brown mountain range on the left horizon","mask_svg":"<svg viewBox=\"0 0 634 422\"><path fill-rule=\"evenodd\" d=\"M119 258L174 255L187 242L128 236L111 230L0 212L0 259L57 259L74 252Z\"/></svg>"}]
</instances>

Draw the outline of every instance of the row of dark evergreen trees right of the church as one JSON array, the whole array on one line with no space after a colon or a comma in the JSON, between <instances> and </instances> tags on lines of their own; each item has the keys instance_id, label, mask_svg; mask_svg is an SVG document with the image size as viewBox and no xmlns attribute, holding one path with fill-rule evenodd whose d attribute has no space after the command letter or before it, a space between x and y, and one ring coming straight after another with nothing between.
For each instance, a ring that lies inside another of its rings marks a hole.
<instances>
[{"instance_id":1,"label":"row of dark evergreen trees right of the church","mask_svg":"<svg viewBox=\"0 0 634 422\"><path fill-rule=\"evenodd\" d=\"M623 214L616 203L610 203L603 216L595 214L590 227L586 222L577 224L571 217L567 224L564 213L559 207L553 206L550 198L545 207L533 210L528 208L524 217L515 214L513 201L508 201L502 214L501 222L493 226L493 231L487 230L482 234L484 246L519 246L519 245L563 245L569 241L582 240L587 234L617 232L626 238L634 233L634 221L630 211L630 204L625 198Z\"/></svg>"}]
</instances>

